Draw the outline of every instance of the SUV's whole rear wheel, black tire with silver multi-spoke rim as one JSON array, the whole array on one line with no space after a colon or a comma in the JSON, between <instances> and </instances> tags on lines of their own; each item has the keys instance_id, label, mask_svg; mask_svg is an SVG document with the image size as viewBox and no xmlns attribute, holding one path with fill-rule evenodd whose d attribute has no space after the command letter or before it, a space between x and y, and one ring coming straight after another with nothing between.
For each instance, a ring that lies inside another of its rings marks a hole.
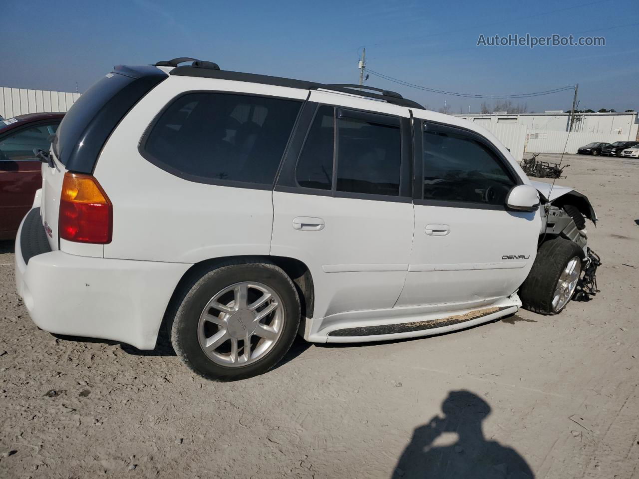
<instances>
[{"instance_id":1,"label":"SUV's whole rear wheel, black tire with silver multi-spoke rim","mask_svg":"<svg viewBox=\"0 0 639 479\"><path fill-rule=\"evenodd\" d=\"M187 283L170 321L171 343L197 374L234 381L275 366L295 339L300 301L269 262L231 261Z\"/></svg>"}]
</instances>

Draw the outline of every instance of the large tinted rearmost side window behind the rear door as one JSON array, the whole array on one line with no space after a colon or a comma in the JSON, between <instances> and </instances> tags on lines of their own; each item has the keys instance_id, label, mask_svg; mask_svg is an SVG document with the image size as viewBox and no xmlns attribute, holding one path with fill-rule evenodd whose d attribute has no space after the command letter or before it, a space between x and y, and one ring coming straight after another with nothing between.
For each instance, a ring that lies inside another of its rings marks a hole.
<instances>
[{"instance_id":1,"label":"large tinted rearmost side window behind the rear door","mask_svg":"<svg viewBox=\"0 0 639 479\"><path fill-rule=\"evenodd\" d=\"M143 140L144 156L192 181L272 185L302 102L229 93L188 93Z\"/></svg>"}]
</instances>

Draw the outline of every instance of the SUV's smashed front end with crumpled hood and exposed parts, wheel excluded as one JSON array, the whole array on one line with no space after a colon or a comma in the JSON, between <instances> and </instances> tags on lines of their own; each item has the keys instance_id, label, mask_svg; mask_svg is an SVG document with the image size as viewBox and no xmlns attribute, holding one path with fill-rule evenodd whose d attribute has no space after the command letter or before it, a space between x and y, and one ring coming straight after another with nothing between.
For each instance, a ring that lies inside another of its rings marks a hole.
<instances>
[{"instance_id":1,"label":"SUV's smashed front end with crumpled hood and exposed parts, wheel excluded","mask_svg":"<svg viewBox=\"0 0 639 479\"><path fill-rule=\"evenodd\" d=\"M599 293L597 289L597 268L601 258L588 246L586 219L597 224L597 214L589 199L580 192L566 186L550 185L541 181L531 181L539 191L542 204L543 222L540 244L546 239L560 237L573 241L583 251L580 278L573 301L589 301Z\"/></svg>"}]
</instances>

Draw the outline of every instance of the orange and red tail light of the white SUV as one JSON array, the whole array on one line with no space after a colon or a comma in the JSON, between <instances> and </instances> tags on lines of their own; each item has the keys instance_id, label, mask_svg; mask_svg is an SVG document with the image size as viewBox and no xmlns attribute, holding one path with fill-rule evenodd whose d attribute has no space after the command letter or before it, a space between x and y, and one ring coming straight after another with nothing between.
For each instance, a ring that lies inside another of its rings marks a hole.
<instances>
[{"instance_id":1,"label":"orange and red tail light of the white SUV","mask_svg":"<svg viewBox=\"0 0 639 479\"><path fill-rule=\"evenodd\" d=\"M113 208L93 176L65 173L60 198L60 238L80 243L110 243Z\"/></svg>"}]
</instances>

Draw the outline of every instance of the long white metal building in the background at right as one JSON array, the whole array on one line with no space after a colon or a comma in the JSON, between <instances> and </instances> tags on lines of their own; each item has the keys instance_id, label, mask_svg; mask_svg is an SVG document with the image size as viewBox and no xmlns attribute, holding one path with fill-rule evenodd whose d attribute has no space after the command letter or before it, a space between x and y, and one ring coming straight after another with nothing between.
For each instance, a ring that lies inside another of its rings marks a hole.
<instances>
[{"instance_id":1,"label":"long white metal building in the background at right","mask_svg":"<svg viewBox=\"0 0 639 479\"><path fill-rule=\"evenodd\" d=\"M493 114L461 114L455 115L468 119L493 131L495 126L502 124L524 125L528 132L543 130L544 132L567 132L570 123L569 113L521 113L507 114L503 112ZM601 135L600 141L609 141L610 137L617 140L639 139L639 120L637 112L622 113L578 113L575 116L573 132Z\"/></svg>"}]
</instances>

